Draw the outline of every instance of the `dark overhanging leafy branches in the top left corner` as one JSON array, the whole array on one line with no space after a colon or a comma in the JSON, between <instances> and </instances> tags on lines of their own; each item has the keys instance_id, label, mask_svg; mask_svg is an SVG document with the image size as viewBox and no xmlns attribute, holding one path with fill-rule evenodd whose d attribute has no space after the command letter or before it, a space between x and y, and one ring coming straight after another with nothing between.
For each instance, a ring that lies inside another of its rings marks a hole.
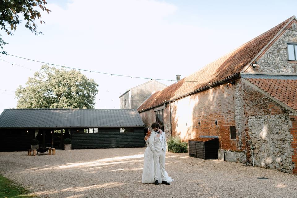
<instances>
[{"instance_id":1,"label":"dark overhanging leafy branches in the top left corner","mask_svg":"<svg viewBox=\"0 0 297 198\"><path fill-rule=\"evenodd\" d=\"M0 0L0 26L8 35L12 35L11 31L15 31L17 25L24 20L25 27L35 34L42 34L37 31L36 20L40 20L40 11L50 12L45 7L45 0ZM38 10L37 10L38 9ZM20 15L23 15L20 19ZM40 20L40 23L44 21ZM1 35L0 35L1 37ZM7 44L0 38L0 48ZM5 51L0 51L1 54L6 54Z\"/></svg>"}]
</instances>

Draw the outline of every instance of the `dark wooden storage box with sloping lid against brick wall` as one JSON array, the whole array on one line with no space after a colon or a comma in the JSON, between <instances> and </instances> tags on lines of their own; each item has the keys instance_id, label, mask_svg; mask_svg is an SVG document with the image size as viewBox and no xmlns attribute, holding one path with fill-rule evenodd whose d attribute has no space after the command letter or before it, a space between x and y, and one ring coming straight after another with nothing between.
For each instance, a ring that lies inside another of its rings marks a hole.
<instances>
[{"instance_id":1,"label":"dark wooden storage box with sloping lid against brick wall","mask_svg":"<svg viewBox=\"0 0 297 198\"><path fill-rule=\"evenodd\" d=\"M199 137L189 140L189 156L202 159L217 159L218 137Z\"/></svg>"}]
</instances>

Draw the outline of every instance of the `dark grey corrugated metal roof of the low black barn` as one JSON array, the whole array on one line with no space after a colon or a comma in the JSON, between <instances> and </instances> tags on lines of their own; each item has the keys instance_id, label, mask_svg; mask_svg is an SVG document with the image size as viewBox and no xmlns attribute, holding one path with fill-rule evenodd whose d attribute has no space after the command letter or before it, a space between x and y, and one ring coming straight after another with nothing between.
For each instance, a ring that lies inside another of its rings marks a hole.
<instances>
[{"instance_id":1,"label":"dark grey corrugated metal roof of the low black barn","mask_svg":"<svg viewBox=\"0 0 297 198\"><path fill-rule=\"evenodd\" d=\"M0 128L144 127L132 109L5 109Z\"/></svg>"}]
</instances>

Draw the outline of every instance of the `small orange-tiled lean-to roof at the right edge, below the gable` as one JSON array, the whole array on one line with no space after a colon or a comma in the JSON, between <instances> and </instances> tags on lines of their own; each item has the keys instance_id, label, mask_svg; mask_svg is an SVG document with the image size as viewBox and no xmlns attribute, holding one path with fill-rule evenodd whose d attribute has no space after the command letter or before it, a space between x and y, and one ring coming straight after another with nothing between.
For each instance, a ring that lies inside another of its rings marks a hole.
<instances>
[{"instance_id":1,"label":"small orange-tiled lean-to roof at the right edge, below the gable","mask_svg":"<svg viewBox=\"0 0 297 198\"><path fill-rule=\"evenodd\" d=\"M270 96L297 111L297 80L246 78Z\"/></svg>"}]
</instances>

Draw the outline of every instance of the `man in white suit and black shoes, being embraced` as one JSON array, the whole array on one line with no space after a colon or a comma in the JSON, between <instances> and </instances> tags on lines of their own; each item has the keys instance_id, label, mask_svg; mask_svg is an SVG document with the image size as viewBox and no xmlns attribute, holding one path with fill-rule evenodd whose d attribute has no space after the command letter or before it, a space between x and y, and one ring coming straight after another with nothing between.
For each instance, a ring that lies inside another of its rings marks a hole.
<instances>
[{"instance_id":1,"label":"man in white suit and black shoes, being embraced","mask_svg":"<svg viewBox=\"0 0 297 198\"><path fill-rule=\"evenodd\" d=\"M162 184L170 185L170 183L166 181L165 175L166 136L165 132L163 132L160 127L159 123L153 123L152 128L155 132L151 133L151 136L149 137L149 147L154 155L154 180L155 184L159 185L158 180L161 179L158 178L157 168L159 167L161 169Z\"/></svg>"}]
</instances>

